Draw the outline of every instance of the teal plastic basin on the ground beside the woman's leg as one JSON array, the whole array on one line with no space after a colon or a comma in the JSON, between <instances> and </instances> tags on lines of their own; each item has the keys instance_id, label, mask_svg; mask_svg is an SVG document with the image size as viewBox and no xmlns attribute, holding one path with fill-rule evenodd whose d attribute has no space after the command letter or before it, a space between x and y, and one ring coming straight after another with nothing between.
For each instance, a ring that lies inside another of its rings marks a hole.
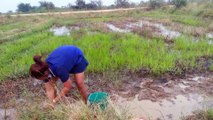
<instances>
[{"instance_id":1,"label":"teal plastic basin on the ground beside the woman's leg","mask_svg":"<svg viewBox=\"0 0 213 120\"><path fill-rule=\"evenodd\" d=\"M91 106L98 105L104 110L108 105L109 95L105 92L94 92L88 96L88 101Z\"/></svg>"}]
</instances>

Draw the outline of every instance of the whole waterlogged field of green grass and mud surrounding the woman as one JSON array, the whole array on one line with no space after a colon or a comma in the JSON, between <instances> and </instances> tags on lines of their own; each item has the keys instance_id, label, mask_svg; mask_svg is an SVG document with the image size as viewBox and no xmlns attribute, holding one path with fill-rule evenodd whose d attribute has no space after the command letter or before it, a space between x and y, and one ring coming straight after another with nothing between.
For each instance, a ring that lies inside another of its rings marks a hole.
<instances>
[{"instance_id":1,"label":"whole waterlogged field of green grass and mud surrounding the woman","mask_svg":"<svg viewBox=\"0 0 213 120\"><path fill-rule=\"evenodd\" d=\"M6 35L0 39L0 120L109 120L111 115L115 120L184 120L213 108L211 19L138 10L8 20L0 34ZM26 20L28 29L21 29ZM35 54L45 59L61 45L82 49L89 62L89 93L107 92L114 111L91 113L79 102L75 84L54 109L43 106L45 90L29 77L29 66Z\"/></svg>"}]
</instances>

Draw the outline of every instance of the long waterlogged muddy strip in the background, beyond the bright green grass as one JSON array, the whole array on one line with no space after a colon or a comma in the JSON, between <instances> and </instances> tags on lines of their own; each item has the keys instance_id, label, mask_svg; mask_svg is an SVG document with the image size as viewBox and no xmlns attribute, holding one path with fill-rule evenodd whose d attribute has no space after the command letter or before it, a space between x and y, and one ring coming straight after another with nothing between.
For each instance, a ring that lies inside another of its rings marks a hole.
<instances>
[{"instance_id":1,"label":"long waterlogged muddy strip in the background, beyond the bright green grass","mask_svg":"<svg viewBox=\"0 0 213 120\"><path fill-rule=\"evenodd\" d=\"M154 36L163 36L166 39L173 39L181 35L179 32L168 30L162 23L154 23L146 20L111 22L107 23L106 26L113 32L134 32L142 36L150 33L154 34Z\"/></svg>"}]
</instances>

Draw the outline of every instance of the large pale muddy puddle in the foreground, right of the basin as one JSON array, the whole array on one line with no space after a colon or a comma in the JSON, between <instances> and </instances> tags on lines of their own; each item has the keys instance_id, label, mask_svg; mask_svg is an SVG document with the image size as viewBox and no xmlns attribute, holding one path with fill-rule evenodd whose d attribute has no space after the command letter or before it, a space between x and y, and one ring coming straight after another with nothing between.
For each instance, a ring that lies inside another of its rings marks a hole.
<instances>
[{"instance_id":1,"label":"large pale muddy puddle in the foreground, right of the basin","mask_svg":"<svg viewBox=\"0 0 213 120\"><path fill-rule=\"evenodd\" d=\"M208 102L205 101L205 97L198 94L177 95L175 98L164 99L161 102L139 101L138 95L131 100L118 95L115 96L117 98L116 105L127 109L134 118L144 117L150 120L179 120L180 117L190 115L195 110L203 109L203 105Z\"/></svg>"}]
</instances>

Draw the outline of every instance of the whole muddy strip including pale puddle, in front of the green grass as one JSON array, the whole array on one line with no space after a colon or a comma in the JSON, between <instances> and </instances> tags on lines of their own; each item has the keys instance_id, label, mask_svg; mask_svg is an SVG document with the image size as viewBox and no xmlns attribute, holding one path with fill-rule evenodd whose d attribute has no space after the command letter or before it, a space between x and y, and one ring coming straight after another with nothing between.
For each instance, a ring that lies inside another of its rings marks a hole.
<instances>
[{"instance_id":1,"label":"whole muddy strip including pale puddle, in front of the green grass","mask_svg":"<svg viewBox=\"0 0 213 120\"><path fill-rule=\"evenodd\" d=\"M152 77L146 75L145 71L141 72L118 73L117 81L105 80L106 76L110 79L108 75L91 74L86 75L85 83L89 92L108 92L115 105L128 108L129 113L136 118L178 120L183 113L189 115L194 110L203 109L203 105L213 107L212 73ZM0 108L25 105L32 98L34 101L35 98L40 101L46 99L42 87L33 83L31 79L5 81L0 85ZM75 85L67 97L70 96L80 98Z\"/></svg>"}]
</instances>

